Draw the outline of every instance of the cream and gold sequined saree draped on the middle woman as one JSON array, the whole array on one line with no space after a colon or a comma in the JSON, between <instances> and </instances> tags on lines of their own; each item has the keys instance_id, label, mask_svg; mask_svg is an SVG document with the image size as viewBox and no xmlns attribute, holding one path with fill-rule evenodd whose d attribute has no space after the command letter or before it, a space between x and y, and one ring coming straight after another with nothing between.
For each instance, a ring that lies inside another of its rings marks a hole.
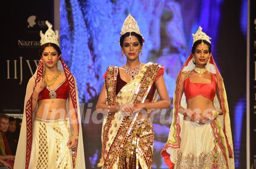
<instances>
[{"instance_id":1,"label":"cream and gold sequined saree draped on the middle woman","mask_svg":"<svg viewBox=\"0 0 256 169\"><path fill-rule=\"evenodd\" d=\"M146 63L116 95L118 67L110 66L105 78L107 105L124 103L143 103L154 83L161 66ZM163 68L163 67L162 67ZM154 91L153 102L157 101L158 92ZM153 165L154 131L150 118L138 120L139 112L131 117L124 117L117 111L105 116L102 126L102 169L151 168Z\"/></svg>"}]
</instances>

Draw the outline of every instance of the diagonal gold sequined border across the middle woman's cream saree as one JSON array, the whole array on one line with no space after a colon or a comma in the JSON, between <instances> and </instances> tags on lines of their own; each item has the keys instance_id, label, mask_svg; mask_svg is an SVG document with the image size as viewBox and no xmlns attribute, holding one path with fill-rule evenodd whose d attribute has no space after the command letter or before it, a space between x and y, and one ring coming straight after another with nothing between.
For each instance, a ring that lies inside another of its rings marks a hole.
<instances>
[{"instance_id":1,"label":"diagonal gold sequined border across the middle woman's cream saree","mask_svg":"<svg viewBox=\"0 0 256 169\"><path fill-rule=\"evenodd\" d=\"M156 63L151 63L150 66L145 71L145 74L142 77L141 83L137 91L135 92L133 103L141 103L145 100L149 88L154 83L154 79L156 74L158 73L161 66ZM137 119L138 113L135 114L133 117L124 118L120 128L117 131L117 135L114 137L114 141L110 146L110 150L105 159L104 169L109 169L112 167L114 161L118 157L118 154L122 151L123 145L127 140L130 131L132 130L133 124Z\"/></svg>"}]
</instances>

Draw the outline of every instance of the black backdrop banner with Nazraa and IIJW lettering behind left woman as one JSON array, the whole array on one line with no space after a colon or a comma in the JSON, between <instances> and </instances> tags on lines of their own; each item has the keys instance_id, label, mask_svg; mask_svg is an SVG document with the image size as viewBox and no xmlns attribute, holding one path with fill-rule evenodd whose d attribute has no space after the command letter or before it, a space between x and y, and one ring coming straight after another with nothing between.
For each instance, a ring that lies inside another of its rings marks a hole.
<instances>
[{"instance_id":1,"label":"black backdrop banner with Nazraa and IIJW lettering behind left woman","mask_svg":"<svg viewBox=\"0 0 256 169\"><path fill-rule=\"evenodd\" d=\"M2 24L6 41L2 49L1 113L23 114L24 97L28 80L36 71L40 56L40 35L45 32L48 20L53 25L53 0L12 2L17 8L8 7L11 15Z\"/></svg>"}]
</instances>

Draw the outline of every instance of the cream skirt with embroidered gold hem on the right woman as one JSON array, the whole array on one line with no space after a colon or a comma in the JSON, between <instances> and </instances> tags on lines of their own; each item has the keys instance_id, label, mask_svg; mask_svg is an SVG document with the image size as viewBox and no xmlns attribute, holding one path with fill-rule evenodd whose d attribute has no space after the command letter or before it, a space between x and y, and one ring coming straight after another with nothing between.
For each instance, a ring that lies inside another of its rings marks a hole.
<instances>
[{"instance_id":1,"label":"cream skirt with embroidered gold hem on the right woman","mask_svg":"<svg viewBox=\"0 0 256 169\"><path fill-rule=\"evenodd\" d=\"M225 159L210 124L183 120L177 169L225 169Z\"/></svg>"}]
</instances>

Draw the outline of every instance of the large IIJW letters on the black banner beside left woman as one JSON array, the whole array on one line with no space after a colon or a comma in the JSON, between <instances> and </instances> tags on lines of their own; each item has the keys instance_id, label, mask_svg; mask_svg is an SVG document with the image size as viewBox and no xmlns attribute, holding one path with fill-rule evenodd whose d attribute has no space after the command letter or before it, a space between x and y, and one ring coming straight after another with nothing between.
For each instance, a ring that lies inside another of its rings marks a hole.
<instances>
[{"instance_id":1,"label":"large IIJW letters on the black banner beside left woman","mask_svg":"<svg viewBox=\"0 0 256 169\"><path fill-rule=\"evenodd\" d=\"M23 62L22 62L22 58L23 57L19 57L20 60L13 60L13 62L10 62L11 60L6 60L7 62L7 78L6 79L11 79L10 77L10 65L11 65L11 69L14 70L14 78L13 79L18 79L17 77L17 62L20 62L20 70L19 70L19 74L20 74L20 83L19 84L22 84L22 79L23 79ZM28 68L30 69L30 73L31 73L31 76L33 76L33 71L32 71L32 68L31 68L31 64L30 64L30 60L26 60L27 62L27 66ZM33 60L34 64L38 65L39 63L39 60ZM13 72L13 71L12 71Z\"/></svg>"}]
</instances>

